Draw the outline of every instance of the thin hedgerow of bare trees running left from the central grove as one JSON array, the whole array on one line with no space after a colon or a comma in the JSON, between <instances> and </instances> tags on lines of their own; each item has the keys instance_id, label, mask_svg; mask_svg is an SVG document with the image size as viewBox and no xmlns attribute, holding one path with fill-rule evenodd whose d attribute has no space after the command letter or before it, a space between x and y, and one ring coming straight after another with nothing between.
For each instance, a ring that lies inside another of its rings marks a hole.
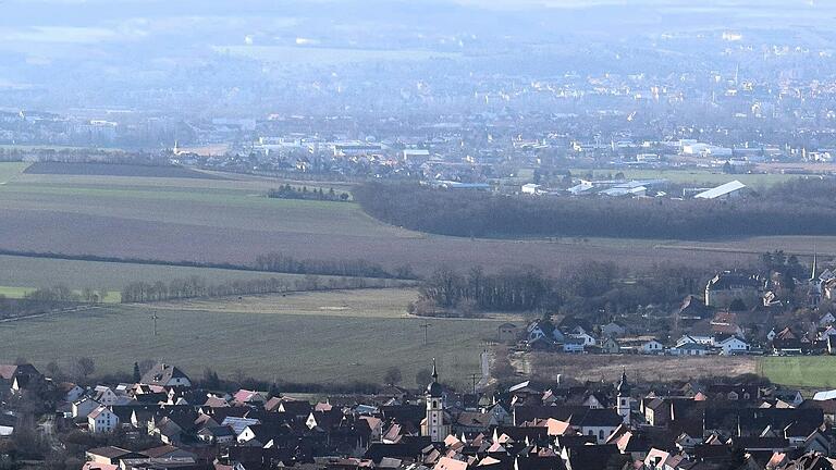
<instances>
[{"instance_id":1,"label":"thin hedgerow of bare trees running left from the central grove","mask_svg":"<svg viewBox=\"0 0 836 470\"><path fill-rule=\"evenodd\" d=\"M322 279L308 274L302 279L278 277L236 280L210 283L204 277L192 276L162 281L133 282L122 289L122 302L147 302L186 298L226 297L235 295L275 294L294 290L356 289L366 287L391 287L385 281L370 283L362 277Z\"/></svg>"}]
</instances>

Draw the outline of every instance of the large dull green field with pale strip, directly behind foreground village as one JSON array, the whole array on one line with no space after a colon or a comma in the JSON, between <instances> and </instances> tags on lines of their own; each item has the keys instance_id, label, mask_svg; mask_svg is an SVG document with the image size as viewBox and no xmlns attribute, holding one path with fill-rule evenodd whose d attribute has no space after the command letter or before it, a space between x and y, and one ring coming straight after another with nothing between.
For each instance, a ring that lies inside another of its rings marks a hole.
<instances>
[{"instance_id":1,"label":"large dull green field with pale strip, directly behind foreground village","mask_svg":"<svg viewBox=\"0 0 836 470\"><path fill-rule=\"evenodd\" d=\"M470 374L479 372L483 341L494 337L501 323L405 318L408 290L345 294L287 296L295 305L306 305L298 311L205 311L192 309L189 302L184 309L173 304L120 305L2 323L0 362L22 356L36 366L54 360L69 367L72 358L85 355L96 360L97 373L128 373L134 361L153 359L200 376L211 359L222 376L241 370L263 380L318 383L379 383L388 368L397 366L404 384L413 386L416 373L435 357L443 381L466 386ZM276 297L271 301L282 298ZM356 314L312 314L343 302L356 305ZM372 305L377 307L366 310ZM157 337L152 313L159 317ZM426 346L423 323L431 323Z\"/></svg>"}]
</instances>

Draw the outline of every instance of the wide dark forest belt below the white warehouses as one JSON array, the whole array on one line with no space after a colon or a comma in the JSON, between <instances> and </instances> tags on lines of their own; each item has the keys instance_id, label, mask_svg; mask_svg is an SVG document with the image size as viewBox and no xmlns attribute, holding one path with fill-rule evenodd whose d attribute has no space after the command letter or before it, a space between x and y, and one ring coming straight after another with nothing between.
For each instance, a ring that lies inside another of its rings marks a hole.
<instances>
[{"instance_id":1,"label":"wide dark forest belt below the white warehouses","mask_svg":"<svg viewBox=\"0 0 836 470\"><path fill-rule=\"evenodd\" d=\"M798 180L739 200L520 197L370 182L353 191L370 215L452 236L702 239L829 235L836 180Z\"/></svg>"}]
</instances>

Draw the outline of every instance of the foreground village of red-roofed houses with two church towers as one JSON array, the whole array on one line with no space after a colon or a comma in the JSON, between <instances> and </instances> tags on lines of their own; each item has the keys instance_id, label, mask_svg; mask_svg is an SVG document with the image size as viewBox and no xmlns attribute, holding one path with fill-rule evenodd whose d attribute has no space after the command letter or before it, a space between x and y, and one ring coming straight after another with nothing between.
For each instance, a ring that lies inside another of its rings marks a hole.
<instances>
[{"instance_id":1,"label":"foreground village of red-roofed houses with two church towers","mask_svg":"<svg viewBox=\"0 0 836 470\"><path fill-rule=\"evenodd\" d=\"M0 463L48 466L33 461L42 452L60 456L61 468L84 470L836 465L836 391L806 399L764 381L651 383L623 372L601 382L531 378L460 393L433 363L425 389L390 384L311 399L209 389L168 363L142 376L137 366L134 379L81 386L32 364L0 366Z\"/></svg>"}]
</instances>

